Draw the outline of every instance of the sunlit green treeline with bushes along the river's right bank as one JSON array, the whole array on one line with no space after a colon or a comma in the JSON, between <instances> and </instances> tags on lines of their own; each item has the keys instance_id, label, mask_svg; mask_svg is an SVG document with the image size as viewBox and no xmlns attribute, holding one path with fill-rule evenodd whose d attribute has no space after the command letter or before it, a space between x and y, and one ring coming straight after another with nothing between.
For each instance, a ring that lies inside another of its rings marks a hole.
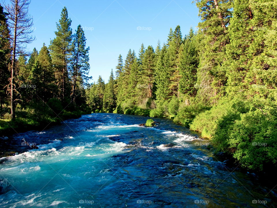
<instances>
[{"instance_id":1,"label":"sunlit green treeline with bushes along the river's right bank","mask_svg":"<svg viewBox=\"0 0 277 208\"><path fill-rule=\"evenodd\" d=\"M276 167L277 2L197 0L199 30L119 55L87 89L93 112L174 117L243 167ZM105 98L108 97L108 101ZM116 97L116 99L115 99ZM112 99L111 99L112 98Z\"/></svg>"}]
</instances>

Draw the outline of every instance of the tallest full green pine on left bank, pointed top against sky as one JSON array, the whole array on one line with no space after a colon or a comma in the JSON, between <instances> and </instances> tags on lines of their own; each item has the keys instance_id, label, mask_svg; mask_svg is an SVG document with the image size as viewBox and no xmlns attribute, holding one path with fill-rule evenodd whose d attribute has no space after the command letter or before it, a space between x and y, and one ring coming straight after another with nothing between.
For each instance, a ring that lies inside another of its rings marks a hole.
<instances>
[{"instance_id":1,"label":"tallest full green pine on left bank, pointed top against sky","mask_svg":"<svg viewBox=\"0 0 277 208\"><path fill-rule=\"evenodd\" d=\"M49 46L59 88L59 97L63 102L65 102L65 99L69 99L70 94L68 77L68 64L72 53L72 29L70 26L71 19L68 18L67 9L64 7L61 12L61 19L57 23L56 37L50 41Z\"/></svg>"}]
</instances>

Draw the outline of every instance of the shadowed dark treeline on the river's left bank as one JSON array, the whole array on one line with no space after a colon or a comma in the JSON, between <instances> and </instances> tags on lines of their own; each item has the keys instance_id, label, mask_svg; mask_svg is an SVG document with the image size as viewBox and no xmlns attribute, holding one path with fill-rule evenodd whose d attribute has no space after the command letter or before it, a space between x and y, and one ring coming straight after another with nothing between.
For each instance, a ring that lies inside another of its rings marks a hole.
<instances>
[{"instance_id":1,"label":"shadowed dark treeline on the river's left bank","mask_svg":"<svg viewBox=\"0 0 277 208\"><path fill-rule=\"evenodd\" d=\"M29 3L12 0L5 10L0 5L1 132L45 127L88 110L89 47L81 25L72 33L64 7L49 47L28 53L25 48L34 39Z\"/></svg>"}]
</instances>

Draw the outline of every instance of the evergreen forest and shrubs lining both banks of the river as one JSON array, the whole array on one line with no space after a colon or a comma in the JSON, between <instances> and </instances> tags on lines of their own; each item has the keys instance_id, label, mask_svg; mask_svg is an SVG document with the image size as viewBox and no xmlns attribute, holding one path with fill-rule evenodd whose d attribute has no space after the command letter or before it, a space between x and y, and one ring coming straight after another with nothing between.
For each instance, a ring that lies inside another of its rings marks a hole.
<instances>
[{"instance_id":1,"label":"evergreen forest and shrubs lining both banks of the river","mask_svg":"<svg viewBox=\"0 0 277 208\"><path fill-rule=\"evenodd\" d=\"M277 2L195 3L197 31L174 26L165 43L119 54L108 82L91 84L84 31L72 32L66 8L50 45L28 53L27 14L16 26L0 7L1 133L91 112L172 118L244 168L276 167Z\"/></svg>"}]
</instances>

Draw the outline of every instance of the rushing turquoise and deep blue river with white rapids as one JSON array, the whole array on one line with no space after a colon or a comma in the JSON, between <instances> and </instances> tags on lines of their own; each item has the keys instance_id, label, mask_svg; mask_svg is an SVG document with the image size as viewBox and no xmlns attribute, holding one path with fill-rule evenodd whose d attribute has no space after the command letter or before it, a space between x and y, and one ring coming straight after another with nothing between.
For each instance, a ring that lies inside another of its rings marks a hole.
<instances>
[{"instance_id":1,"label":"rushing turquoise and deep blue river with white rapids","mask_svg":"<svg viewBox=\"0 0 277 208\"><path fill-rule=\"evenodd\" d=\"M0 160L0 207L277 207L276 190L230 168L171 120L91 114L42 132Z\"/></svg>"}]
</instances>

